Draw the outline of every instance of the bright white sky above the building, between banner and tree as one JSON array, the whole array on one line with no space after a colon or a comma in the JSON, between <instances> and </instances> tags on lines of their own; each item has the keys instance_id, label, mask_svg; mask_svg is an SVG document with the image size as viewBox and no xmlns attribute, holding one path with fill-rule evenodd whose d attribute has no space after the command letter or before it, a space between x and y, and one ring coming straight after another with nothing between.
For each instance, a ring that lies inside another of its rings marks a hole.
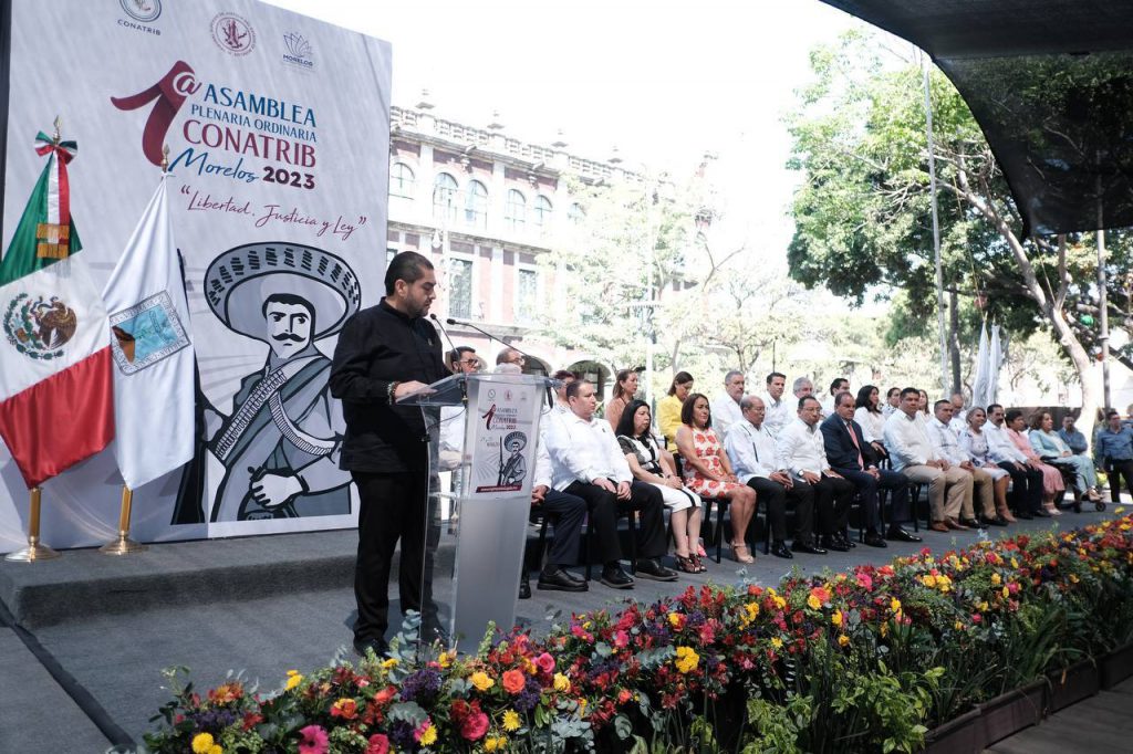
<instances>
[{"instance_id":1,"label":"bright white sky above the building, between banner and tree","mask_svg":"<svg viewBox=\"0 0 1133 754\"><path fill-rule=\"evenodd\" d=\"M861 25L818 0L267 0L393 46L395 105L630 169L689 175L706 152L722 245L783 260L796 177L782 117L817 44ZM561 136L560 136L561 134ZM782 263L785 271L785 262Z\"/></svg>"}]
</instances>

